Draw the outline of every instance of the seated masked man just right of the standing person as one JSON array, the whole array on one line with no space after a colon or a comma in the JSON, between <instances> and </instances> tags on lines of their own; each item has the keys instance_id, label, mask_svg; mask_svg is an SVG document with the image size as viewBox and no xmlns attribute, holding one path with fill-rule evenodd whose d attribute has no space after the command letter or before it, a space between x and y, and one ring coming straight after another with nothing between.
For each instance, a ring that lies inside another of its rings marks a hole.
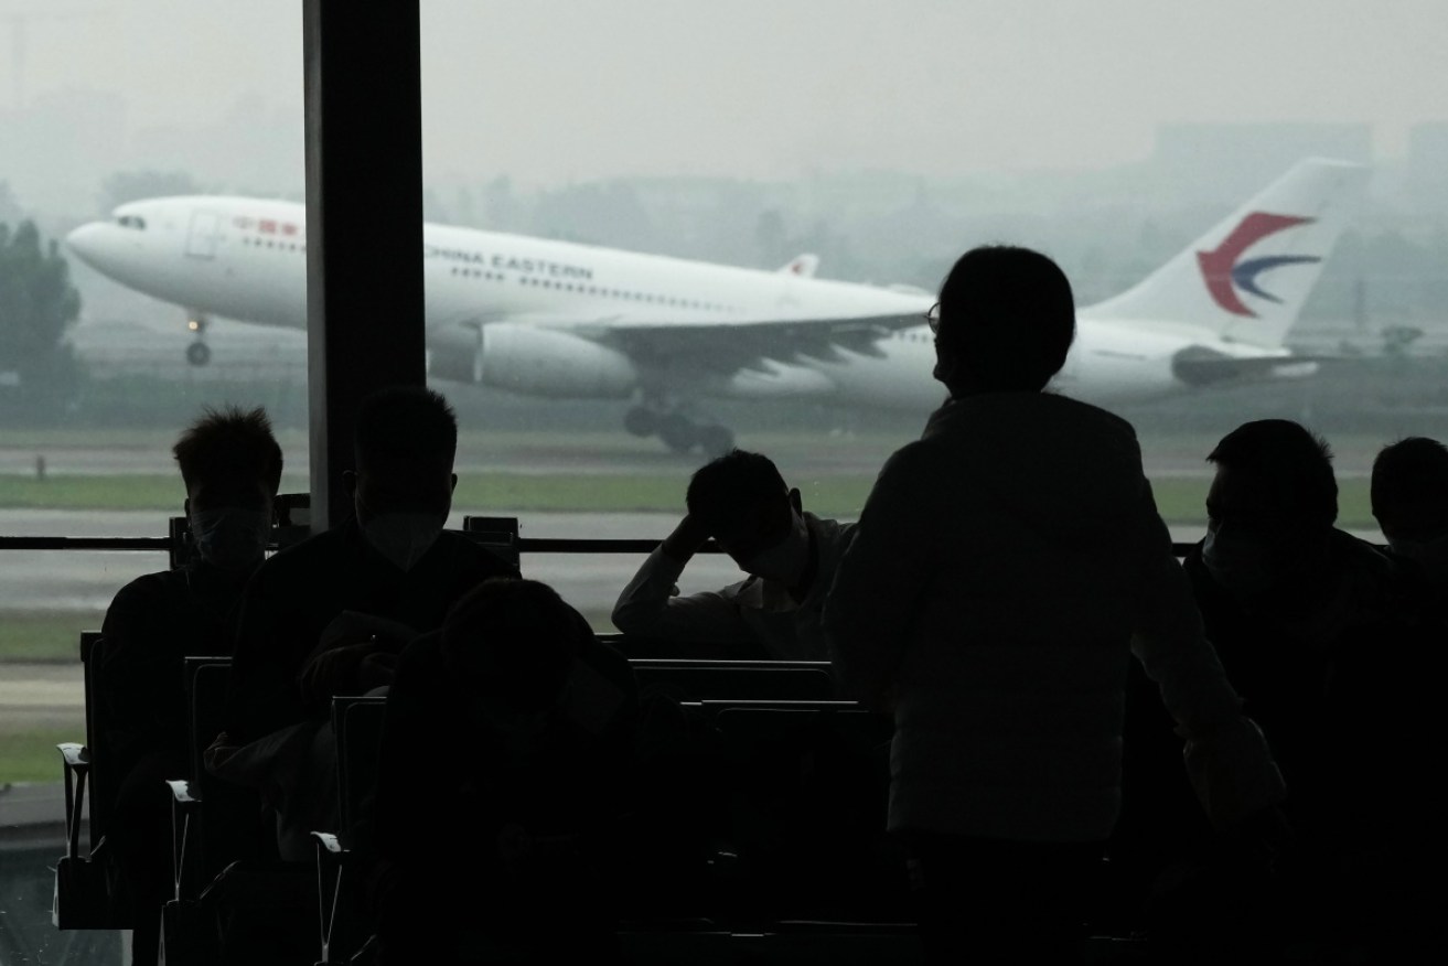
<instances>
[{"instance_id":1,"label":"seated masked man just right of the standing person","mask_svg":"<svg viewBox=\"0 0 1448 966\"><path fill-rule=\"evenodd\" d=\"M1334 527L1322 439L1260 420L1208 459L1208 532L1186 571L1292 789L1299 840L1286 869L1300 918L1289 928L1329 943L1392 938L1403 859L1435 821L1422 812L1423 757L1441 731L1431 708L1442 642L1422 637L1393 560Z\"/></svg>"}]
</instances>

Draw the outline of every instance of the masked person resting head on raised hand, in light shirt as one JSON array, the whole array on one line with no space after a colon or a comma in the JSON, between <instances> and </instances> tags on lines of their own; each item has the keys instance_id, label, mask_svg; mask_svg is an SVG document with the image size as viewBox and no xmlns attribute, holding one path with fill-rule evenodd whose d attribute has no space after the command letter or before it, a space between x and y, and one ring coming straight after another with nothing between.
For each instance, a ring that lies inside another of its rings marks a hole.
<instances>
[{"instance_id":1,"label":"masked person resting head on raised hand, in light shirt","mask_svg":"<svg viewBox=\"0 0 1448 966\"><path fill-rule=\"evenodd\" d=\"M820 614L854 524L822 520L801 507L767 456L734 450L689 481L688 513L649 555L614 605L626 634L734 656L828 660ZM678 595L675 585L710 537L749 574L720 591Z\"/></svg>"}]
</instances>

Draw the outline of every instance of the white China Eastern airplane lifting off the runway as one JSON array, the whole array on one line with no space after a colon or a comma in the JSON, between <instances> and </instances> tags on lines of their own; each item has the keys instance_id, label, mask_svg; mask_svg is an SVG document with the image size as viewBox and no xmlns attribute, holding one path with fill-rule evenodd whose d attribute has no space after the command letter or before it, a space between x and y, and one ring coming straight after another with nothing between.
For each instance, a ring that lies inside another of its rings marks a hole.
<instances>
[{"instance_id":1,"label":"white China Eastern airplane lifting off the runway","mask_svg":"<svg viewBox=\"0 0 1448 966\"><path fill-rule=\"evenodd\" d=\"M1111 406L1315 371L1283 337L1367 184L1305 159L1140 284L1077 310L1053 388ZM307 324L306 209L243 197L119 206L67 238L117 282L187 310L206 365L211 316ZM429 375L546 398L631 400L624 427L717 455L701 397L815 398L928 413L935 297L591 245L423 226Z\"/></svg>"}]
</instances>

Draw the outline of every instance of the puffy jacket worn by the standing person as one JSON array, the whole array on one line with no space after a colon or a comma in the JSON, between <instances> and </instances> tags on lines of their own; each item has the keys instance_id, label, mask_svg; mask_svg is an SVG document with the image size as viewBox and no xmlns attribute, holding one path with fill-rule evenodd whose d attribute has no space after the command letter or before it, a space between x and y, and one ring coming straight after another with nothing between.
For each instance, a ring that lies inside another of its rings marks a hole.
<instances>
[{"instance_id":1,"label":"puffy jacket worn by the standing person","mask_svg":"<svg viewBox=\"0 0 1448 966\"><path fill-rule=\"evenodd\" d=\"M941 407L880 472L824 624L841 689L893 702L892 828L1105 839L1132 650L1187 737L1250 746L1231 795L1280 798L1135 433L1103 410L1043 392Z\"/></svg>"}]
</instances>

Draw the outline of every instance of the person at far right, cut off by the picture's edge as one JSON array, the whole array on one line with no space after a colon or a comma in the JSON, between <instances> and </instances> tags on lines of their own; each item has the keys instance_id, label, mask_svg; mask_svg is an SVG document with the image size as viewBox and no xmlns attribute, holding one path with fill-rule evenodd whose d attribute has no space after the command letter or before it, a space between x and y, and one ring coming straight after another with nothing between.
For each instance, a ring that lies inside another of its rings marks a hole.
<instances>
[{"instance_id":1,"label":"person at far right, cut off by the picture's edge","mask_svg":"<svg viewBox=\"0 0 1448 966\"><path fill-rule=\"evenodd\" d=\"M1373 516L1387 546L1412 560L1441 621L1448 594L1448 446L1413 436L1373 461Z\"/></svg>"}]
</instances>

